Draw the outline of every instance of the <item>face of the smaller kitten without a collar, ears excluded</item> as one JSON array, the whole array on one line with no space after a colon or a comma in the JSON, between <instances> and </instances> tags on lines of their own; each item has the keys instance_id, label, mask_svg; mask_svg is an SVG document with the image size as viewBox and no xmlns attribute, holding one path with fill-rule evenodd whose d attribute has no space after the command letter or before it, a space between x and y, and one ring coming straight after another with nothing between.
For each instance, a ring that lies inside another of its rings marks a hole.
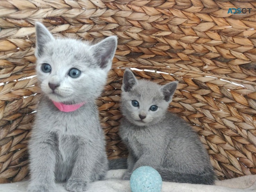
<instances>
[{"instance_id":1,"label":"face of the smaller kitten without a collar, ears excluded","mask_svg":"<svg viewBox=\"0 0 256 192\"><path fill-rule=\"evenodd\" d=\"M123 114L135 125L158 122L167 108L168 102L155 83L141 80L131 91L122 93Z\"/></svg>"}]
</instances>

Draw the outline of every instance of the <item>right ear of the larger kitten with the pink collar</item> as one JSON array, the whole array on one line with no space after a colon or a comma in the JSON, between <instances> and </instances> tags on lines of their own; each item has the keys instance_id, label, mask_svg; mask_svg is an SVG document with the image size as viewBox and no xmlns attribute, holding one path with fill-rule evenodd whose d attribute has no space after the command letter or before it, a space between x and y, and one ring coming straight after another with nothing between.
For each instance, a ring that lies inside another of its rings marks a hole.
<instances>
[{"instance_id":1,"label":"right ear of the larger kitten with the pink collar","mask_svg":"<svg viewBox=\"0 0 256 192\"><path fill-rule=\"evenodd\" d=\"M93 56L97 59L97 65L99 65L100 68L110 70L112 66L112 60L116 52L116 47L116 36L107 37L103 41L91 47Z\"/></svg>"}]
</instances>

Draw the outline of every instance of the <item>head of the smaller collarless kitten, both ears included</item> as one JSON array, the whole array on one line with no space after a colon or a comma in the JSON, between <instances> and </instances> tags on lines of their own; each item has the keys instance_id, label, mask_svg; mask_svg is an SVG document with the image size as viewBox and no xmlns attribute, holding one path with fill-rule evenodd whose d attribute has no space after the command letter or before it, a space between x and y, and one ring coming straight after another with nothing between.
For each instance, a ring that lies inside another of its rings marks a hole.
<instances>
[{"instance_id":1,"label":"head of the smaller collarless kitten, both ears included","mask_svg":"<svg viewBox=\"0 0 256 192\"><path fill-rule=\"evenodd\" d=\"M131 70L126 69L122 85L122 112L133 124L146 126L159 122L163 117L177 82L164 86L146 80L137 80Z\"/></svg>"}]
</instances>

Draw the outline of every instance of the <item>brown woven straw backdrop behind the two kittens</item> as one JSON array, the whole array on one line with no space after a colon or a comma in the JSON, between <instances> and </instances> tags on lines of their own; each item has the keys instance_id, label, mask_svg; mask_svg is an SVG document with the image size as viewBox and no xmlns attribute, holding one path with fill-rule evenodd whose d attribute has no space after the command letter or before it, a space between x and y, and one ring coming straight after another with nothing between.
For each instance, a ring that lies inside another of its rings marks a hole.
<instances>
[{"instance_id":1,"label":"brown woven straw backdrop behind the two kittens","mask_svg":"<svg viewBox=\"0 0 256 192\"><path fill-rule=\"evenodd\" d=\"M127 154L117 132L122 68L132 67L142 69L139 78L179 81L170 111L202 135L220 179L256 174L255 7L252 0L0 0L0 183L28 174L40 98L36 78L24 79L35 75L35 21L60 37L119 37L97 100L109 158Z\"/></svg>"}]
</instances>

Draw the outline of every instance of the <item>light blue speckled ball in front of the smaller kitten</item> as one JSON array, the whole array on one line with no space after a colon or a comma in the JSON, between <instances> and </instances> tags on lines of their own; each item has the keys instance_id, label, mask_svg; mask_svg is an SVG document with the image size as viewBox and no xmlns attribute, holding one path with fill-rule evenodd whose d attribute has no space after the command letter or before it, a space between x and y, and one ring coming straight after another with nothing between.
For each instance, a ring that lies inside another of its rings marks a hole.
<instances>
[{"instance_id":1,"label":"light blue speckled ball in front of the smaller kitten","mask_svg":"<svg viewBox=\"0 0 256 192\"><path fill-rule=\"evenodd\" d=\"M161 192L162 183L157 170L149 166L135 169L130 179L132 192Z\"/></svg>"}]
</instances>

